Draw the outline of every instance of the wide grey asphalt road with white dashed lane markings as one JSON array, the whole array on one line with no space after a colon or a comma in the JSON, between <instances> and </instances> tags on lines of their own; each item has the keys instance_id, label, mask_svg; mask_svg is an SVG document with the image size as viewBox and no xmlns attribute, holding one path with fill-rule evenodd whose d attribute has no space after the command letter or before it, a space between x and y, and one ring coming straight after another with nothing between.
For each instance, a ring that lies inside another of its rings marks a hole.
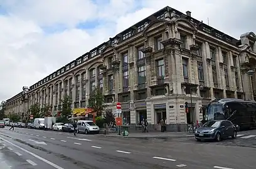
<instances>
[{"instance_id":1,"label":"wide grey asphalt road with white dashed lane markings","mask_svg":"<svg viewBox=\"0 0 256 169\"><path fill-rule=\"evenodd\" d=\"M0 140L4 168L255 168L255 148L193 138L137 140L5 128Z\"/></svg>"}]
</instances>

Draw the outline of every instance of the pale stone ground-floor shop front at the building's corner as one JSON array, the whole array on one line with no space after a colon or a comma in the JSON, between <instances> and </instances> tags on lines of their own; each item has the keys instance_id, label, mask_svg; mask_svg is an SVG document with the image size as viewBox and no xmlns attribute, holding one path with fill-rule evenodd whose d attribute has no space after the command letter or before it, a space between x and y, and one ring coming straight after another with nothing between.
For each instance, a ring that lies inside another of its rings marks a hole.
<instances>
[{"instance_id":1,"label":"pale stone ground-floor shop front at the building's corner","mask_svg":"<svg viewBox=\"0 0 256 169\"><path fill-rule=\"evenodd\" d=\"M149 130L161 130L160 121L163 119L166 121L167 131L187 131L189 125L203 120L205 111L200 109L210 101L195 96L191 104L191 98L182 95L122 103L122 125L136 128L143 119L147 119ZM185 111L185 102L188 102L188 113ZM115 114L114 107L109 111Z\"/></svg>"}]
</instances>

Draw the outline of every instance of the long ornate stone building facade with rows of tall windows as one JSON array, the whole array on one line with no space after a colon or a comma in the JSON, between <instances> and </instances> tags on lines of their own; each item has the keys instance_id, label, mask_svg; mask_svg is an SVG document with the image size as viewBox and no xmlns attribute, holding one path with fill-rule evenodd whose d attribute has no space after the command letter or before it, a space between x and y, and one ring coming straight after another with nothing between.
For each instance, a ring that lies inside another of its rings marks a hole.
<instances>
[{"instance_id":1,"label":"long ornate stone building facade with rows of tall windows","mask_svg":"<svg viewBox=\"0 0 256 169\"><path fill-rule=\"evenodd\" d=\"M247 72L254 71L255 40L254 33L235 39L189 11L166 7L30 86L27 104L60 110L61 98L69 95L73 108L86 107L97 86L109 105L106 111L122 103L124 124L139 125L147 118L159 130L166 118L167 130L184 131L203 118L200 108L211 100L254 99L255 74ZM21 96L7 100L7 112L22 111Z\"/></svg>"}]
</instances>

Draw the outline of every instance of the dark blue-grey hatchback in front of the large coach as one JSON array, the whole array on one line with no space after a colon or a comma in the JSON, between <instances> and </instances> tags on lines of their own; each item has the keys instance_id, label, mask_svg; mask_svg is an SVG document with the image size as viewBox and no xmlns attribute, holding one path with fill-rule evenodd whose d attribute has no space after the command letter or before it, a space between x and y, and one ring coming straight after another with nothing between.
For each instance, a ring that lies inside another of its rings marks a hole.
<instances>
[{"instance_id":1,"label":"dark blue-grey hatchback in front of the large coach","mask_svg":"<svg viewBox=\"0 0 256 169\"><path fill-rule=\"evenodd\" d=\"M195 138L201 140L221 141L223 138L237 138L237 128L228 120L207 121L201 128L196 129Z\"/></svg>"}]
</instances>

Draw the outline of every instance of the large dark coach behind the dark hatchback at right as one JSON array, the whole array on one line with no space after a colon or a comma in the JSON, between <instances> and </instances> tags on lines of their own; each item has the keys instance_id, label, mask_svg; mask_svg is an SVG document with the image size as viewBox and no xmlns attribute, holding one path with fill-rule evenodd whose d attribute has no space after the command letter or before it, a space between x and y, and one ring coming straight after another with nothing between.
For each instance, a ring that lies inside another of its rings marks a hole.
<instances>
[{"instance_id":1,"label":"large dark coach behind the dark hatchback at right","mask_svg":"<svg viewBox=\"0 0 256 169\"><path fill-rule=\"evenodd\" d=\"M230 120L240 130L256 128L256 102L235 98L213 100L206 106L205 120Z\"/></svg>"}]
</instances>

